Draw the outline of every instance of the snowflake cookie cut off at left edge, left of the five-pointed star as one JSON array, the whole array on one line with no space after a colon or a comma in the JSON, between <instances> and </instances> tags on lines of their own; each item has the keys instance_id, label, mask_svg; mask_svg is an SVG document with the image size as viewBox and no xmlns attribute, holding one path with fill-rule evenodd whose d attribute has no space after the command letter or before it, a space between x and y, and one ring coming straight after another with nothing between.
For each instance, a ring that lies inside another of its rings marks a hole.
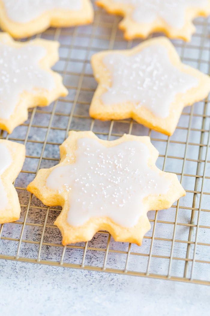
<instances>
[{"instance_id":1,"label":"snowflake cookie cut off at left edge, left of the five-pointed star","mask_svg":"<svg viewBox=\"0 0 210 316\"><path fill-rule=\"evenodd\" d=\"M56 41L20 43L0 33L0 129L11 133L28 118L29 107L68 94L62 77L50 69L59 59L58 48Z\"/></svg>"}]
</instances>

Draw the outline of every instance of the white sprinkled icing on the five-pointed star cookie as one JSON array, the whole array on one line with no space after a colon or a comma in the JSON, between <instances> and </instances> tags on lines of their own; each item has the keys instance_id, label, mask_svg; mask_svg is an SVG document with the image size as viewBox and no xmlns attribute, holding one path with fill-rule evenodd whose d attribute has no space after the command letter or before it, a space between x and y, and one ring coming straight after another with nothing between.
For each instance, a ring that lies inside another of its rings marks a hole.
<instances>
[{"instance_id":1,"label":"white sprinkled icing on the five-pointed star cookie","mask_svg":"<svg viewBox=\"0 0 210 316\"><path fill-rule=\"evenodd\" d=\"M169 115L176 94L186 93L199 83L196 77L177 70L167 49L160 45L146 47L133 56L109 54L103 63L112 83L101 96L106 106L130 101L161 118Z\"/></svg>"}]
</instances>

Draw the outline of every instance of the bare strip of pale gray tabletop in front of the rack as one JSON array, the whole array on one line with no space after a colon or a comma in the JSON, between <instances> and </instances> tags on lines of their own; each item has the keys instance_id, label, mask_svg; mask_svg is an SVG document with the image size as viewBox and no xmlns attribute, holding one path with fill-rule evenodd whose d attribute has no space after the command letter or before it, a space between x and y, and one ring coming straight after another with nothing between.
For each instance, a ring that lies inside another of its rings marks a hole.
<instances>
[{"instance_id":1,"label":"bare strip of pale gray tabletop in front of the rack","mask_svg":"<svg viewBox=\"0 0 210 316\"><path fill-rule=\"evenodd\" d=\"M0 261L2 315L209 315L209 288L103 272Z\"/></svg>"}]
</instances>

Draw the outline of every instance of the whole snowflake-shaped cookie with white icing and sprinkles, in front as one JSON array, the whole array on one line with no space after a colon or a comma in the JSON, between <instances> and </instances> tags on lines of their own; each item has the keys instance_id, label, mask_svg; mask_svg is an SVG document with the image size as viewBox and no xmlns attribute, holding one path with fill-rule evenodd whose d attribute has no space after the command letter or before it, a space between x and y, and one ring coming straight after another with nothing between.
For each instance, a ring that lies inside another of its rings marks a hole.
<instances>
[{"instance_id":1,"label":"whole snowflake-shaped cookie with white icing and sprinkles, in front","mask_svg":"<svg viewBox=\"0 0 210 316\"><path fill-rule=\"evenodd\" d=\"M141 245L150 229L147 211L169 208L185 195L175 174L156 167L158 151L148 136L105 141L91 131L71 131L60 156L27 190L48 206L62 206L55 224L63 245L91 240L100 229Z\"/></svg>"}]
</instances>

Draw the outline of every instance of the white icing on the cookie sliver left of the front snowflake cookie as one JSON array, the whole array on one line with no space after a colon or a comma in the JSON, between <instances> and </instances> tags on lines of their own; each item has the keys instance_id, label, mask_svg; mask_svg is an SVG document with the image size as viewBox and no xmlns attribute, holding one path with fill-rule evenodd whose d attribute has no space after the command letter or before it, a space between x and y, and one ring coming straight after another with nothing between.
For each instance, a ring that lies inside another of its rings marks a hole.
<instances>
[{"instance_id":1,"label":"white icing on the cookie sliver left of the front snowflake cookie","mask_svg":"<svg viewBox=\"0 0 210 316\"><path fill-rule=\"evenodd\" d=\"M2 174L11 165L12 156L7 146L0 143L0 210L5 210L8 206L8 197L2 183Z\"/></svg>"}]
</instances>

